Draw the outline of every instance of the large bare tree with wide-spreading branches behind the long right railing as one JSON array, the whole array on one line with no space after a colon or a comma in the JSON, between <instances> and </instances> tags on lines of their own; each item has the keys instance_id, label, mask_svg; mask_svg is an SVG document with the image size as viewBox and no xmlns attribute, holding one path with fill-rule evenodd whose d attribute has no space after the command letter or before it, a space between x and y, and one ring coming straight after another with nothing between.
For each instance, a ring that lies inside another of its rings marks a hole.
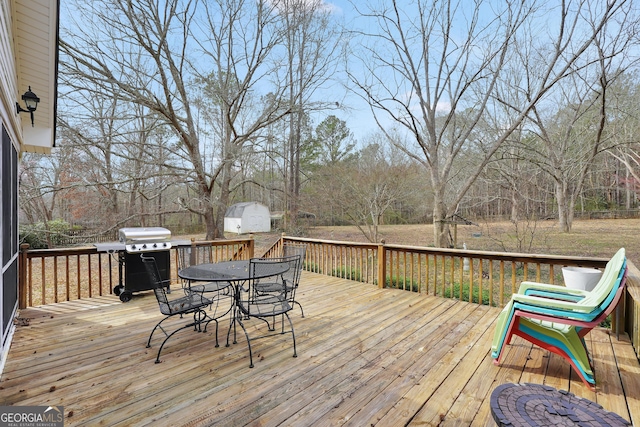
<instances>
[{"instance_id":1,"label":"large bare tree with wide-spreading branches behind the long right railing","mask_svg":"<svg viewBox=\"0 0 640 427\"><path fill-rule=\"evenodd\" d=\"M628 3L418 0L411 8L394 0L361 10L376 30L356 30L368 42L367 74L351 80L381 129L391 120L412 136L402 148L430 173L437 246L450 245L446 219L500 145ZM476 138L490 117L499 135ZM474 162L454 187L456 161L472 147Z\"/></svg>"}]
</instances>

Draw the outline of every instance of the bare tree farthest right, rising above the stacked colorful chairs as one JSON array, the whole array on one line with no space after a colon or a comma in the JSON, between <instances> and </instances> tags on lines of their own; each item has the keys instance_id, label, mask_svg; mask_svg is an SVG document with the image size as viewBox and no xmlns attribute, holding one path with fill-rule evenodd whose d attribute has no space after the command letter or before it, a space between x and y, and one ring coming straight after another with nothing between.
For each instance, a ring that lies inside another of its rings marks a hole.
<instances>
[{"instance_id":1,"label":"bare tree farthest right, rising above the stacked colorful chairs","mask_svg":"<svg viewBox=\"0 0 640 427\"><path fill-rule=\"evenodd\" d=\"M632 31L619 30L629 27L626 19L610 23L613 31L597 34L593 59L586 57L576 63L578 69L560 82L555 98L560 109L552 117L546 117L538 106L531 109L543 151L534 152L530 161L553 180L559 227L564 232L571 231L576 201L594 159L613 143L605 133L609 90L633 63L620 61L634 38Z\"/></svg>"}]
</instances>

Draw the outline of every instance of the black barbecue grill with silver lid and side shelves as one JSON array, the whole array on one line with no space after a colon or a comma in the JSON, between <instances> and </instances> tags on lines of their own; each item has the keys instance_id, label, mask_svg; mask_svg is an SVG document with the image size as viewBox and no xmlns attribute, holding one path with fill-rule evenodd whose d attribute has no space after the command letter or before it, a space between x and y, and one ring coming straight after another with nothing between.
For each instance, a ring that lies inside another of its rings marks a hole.
<instances>
[{"instance_id":1,"label":"black barbecue grill with silver lid and side shelves","mask_svg":"<svg viewBox=\"0 0 640 427\"><path fill-rule=\"evenodd\" d=\"M153 289L154 284L147 276L140 254L154 257L161 279L168 280L171 265L169 249L173 244L183 243L172 242L171 231L163 227L121 228L118 239L118 242L95 243L95 247L98 252L118 254L118 285L113 288L113 293L122 302L130 301L133 292Z\"/></svg>"}]
</instances>

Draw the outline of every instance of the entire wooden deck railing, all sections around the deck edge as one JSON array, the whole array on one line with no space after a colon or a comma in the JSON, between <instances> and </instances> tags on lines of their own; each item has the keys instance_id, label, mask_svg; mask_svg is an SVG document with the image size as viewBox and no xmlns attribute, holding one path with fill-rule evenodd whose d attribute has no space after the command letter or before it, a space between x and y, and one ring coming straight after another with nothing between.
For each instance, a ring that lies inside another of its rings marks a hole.
<instances>
[{"instance_id":1,"label":"entire wooden deck railing, all sections around the deck edge","mask_svg":"<svg viewBox=\"0 0 640 427\"><path fill-rule=\"evenodd\" d=\"M283 235L264 254L282 254L285 242L307 245L304 269L378 287L503 306L520 282L562 283L563 266L603 268L607 259L465 251L384 243L354 243ZM197 262L248 259L251 238L191 242ZM171 278L177 281L177 250ZM640 349L640 272L629 263L626 299L612 320ZM21 253L20 307L105 295L118 284L117 255L95 248L28 250ZM640 353L639 353L640 354Z\"/></svg>"}]
</instances>

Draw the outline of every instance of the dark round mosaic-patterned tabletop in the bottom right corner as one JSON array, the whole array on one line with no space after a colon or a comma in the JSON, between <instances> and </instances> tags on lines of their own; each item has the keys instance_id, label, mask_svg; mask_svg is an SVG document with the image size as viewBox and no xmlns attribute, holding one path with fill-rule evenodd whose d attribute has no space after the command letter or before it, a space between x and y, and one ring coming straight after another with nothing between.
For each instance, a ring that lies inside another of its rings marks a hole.
<instances>
[{"instance_id":1,"label":"dark round mosaic-patterned tabletop in the bottom right corner","mask_svg":"<svg viewBox=\"0 0 640 427\"><path fill-rule=\"evenodd\" d=\"M491 393L499 426L630 426L588 399L541 384L502 384Z\"/></svg>"}]
</instances>

